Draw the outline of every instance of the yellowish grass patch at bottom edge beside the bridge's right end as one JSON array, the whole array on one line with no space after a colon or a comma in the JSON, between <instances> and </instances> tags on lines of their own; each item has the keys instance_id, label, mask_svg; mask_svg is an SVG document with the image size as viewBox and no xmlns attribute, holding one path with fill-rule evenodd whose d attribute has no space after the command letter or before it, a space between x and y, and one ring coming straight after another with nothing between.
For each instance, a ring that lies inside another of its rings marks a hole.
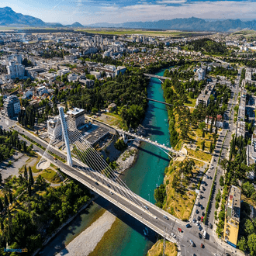
<instances>
[{"instance_id":1,"label":"yellowish grass patch at bottom edge beside the bridge's right end","mask_svg":"<svg viewBox=\"0 0 256 256\"><path fill-rule=\"evenodd\" d=\"M151 249L147 252L147 256L159 256L163 254L163 243L164 241L157 240L157 243L155 243ZM174 243L171 243L169 241L165 241L165 251L164 254L167 256L176 256L178 254L177 245Z\"/></svg>"}]
</instances>

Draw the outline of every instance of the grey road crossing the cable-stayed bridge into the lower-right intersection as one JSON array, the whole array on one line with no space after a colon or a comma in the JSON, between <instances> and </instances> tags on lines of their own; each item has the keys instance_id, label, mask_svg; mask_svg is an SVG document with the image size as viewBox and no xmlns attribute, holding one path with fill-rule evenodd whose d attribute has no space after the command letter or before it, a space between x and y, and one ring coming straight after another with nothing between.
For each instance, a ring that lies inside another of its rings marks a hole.
<instances>
[{"instance_id":1,"label":"grey road crossing the cable-stayed bridge into the lower-right intersection","mask_svg":"<svg viewBox=\"0 0 256 256\"><path fill-rule=\"evenodd\" d=\"M14 124L15 123L13 123L12 125ZM40 138L34 136L32 133L29 133L29 131L23 130L19 126L14 127L14 130L19 130L20 133L25 133L27 137L33 139L37 143L41 144L43 147L47 147L46 142L43 142L43 140L40 140ZM37 150L40 154L44 153L44 150L42 150L40 147L36 147L36 145L34 145L34 149ZM61 152L60 150L54 150L54 153L57 154L59 157L63 157L66 159L66 155L64 154L64 152ZM54 162L54 158L51 156L50 161ZM95 179L93 179L90 175L86 174L86 171L83 172L79 170L79 168L69 167L67 166L67 164L64 164L62 161L59 160L57 160L57 162L55 162L54 164L60 167L62 171L65 171L71 177L76 178L79 182L86 185L89 189L92 189L99 195L104 196L106 199L118 206L120 209L123 209L124 211L126 211L126 213L129 213L133 217L137 218L137 220L140 220L140 222L144 223L152 230L163 231L164 227L166 227L167 238L169 240L171 240L171 233L174 233L176 235L176 240L173 241L177 242L180 245L182 255L187 256L195 254L197 256L213 256L213 252L217 254L224 254L226 252L222 247L220 247L219 244L217 244L213 236L208 236L206 237L206 239L200 239L198 227L195 227L195 225L192 225L192 227L189 228L185 227L186 223L180 220L176 220L170 214L165 213L157 206L154 206L150 204L150 202L147 202L147 200L141 199L144 204L149 207L149 212L147 212L145 209L142 209L141 207L135 206L133 203L130 203L127 199L124 199L122 196L115 193L112 189L109 189L109 187L104 185L104 183L97 181L99 185L95 185ZM79 163L74 161L74 165L78 166ZM110 192L113 193L111 194ZM168 216L169 220L165 220L163 215ZM157 219L155 219L155 216L157 216ZM182 228L182 233L178 232L179 227ZM193 242L195 243L195 247L192 247L192 245L189 243L189 239L193 240ZM201 243L205 245L204 248L200 247Z\"/></svg>"}]
</instances>

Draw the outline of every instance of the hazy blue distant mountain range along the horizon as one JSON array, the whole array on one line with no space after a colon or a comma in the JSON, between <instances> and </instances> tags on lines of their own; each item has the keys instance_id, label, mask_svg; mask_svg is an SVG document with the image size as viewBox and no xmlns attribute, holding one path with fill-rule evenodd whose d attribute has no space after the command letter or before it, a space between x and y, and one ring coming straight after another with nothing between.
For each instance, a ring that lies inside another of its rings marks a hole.
<instances>
[{"instance_id":1,"label":"hazy blue distant mountain range along the horizon","mask_svg":"<svg viewBox=\"0 0 256 256\"><path fill-rule=\"evenodd\" d=\"M256 20L241 21L240 19L209 20L199 18L161 19L156 22L124 22L124 23L95 23L83 26L79 22L64 26L61 23L43 22L33 16L24 16L14 12L10 7L0 8L0 26L40 26L67 28L126 28L126 29L178 29L189 31L220 31L234 32L240 29L256 30Z\"/></svg>"}]
</instances>

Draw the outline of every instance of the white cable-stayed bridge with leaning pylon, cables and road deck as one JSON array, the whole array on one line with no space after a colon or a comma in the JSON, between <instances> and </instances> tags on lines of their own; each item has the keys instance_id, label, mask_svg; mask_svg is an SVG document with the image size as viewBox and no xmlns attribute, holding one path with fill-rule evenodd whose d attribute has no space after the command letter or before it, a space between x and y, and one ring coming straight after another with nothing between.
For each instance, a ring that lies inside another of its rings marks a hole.
<instances>
[{"instance_id":1,"label":"white cable-stayed bridge with leaning pylon, cables and road deck","mask_svg":"<svg viewBox=\"0 0 256 256\"><path fill-rule=\"evenodd\" d=\"M61 171L86 185L89 189L102 195L114 205L123 209L141 223L144 223L157 234L170 241L171 230L175 227L185 227L185 223L176 220L171 214L154 206L152 203L133 193L112 170L100 154L89 144L77 130L74 119L64 115L64 109L59 107L60 117L54 130L54 137L44 151L39 166L47 168L47 164L54 162ZM54 147L62 144L61 150ZM63 155L67 161L54 160L54 154ZM165 217L164 217L165 216Z\"/></svg>"}]
</instances>

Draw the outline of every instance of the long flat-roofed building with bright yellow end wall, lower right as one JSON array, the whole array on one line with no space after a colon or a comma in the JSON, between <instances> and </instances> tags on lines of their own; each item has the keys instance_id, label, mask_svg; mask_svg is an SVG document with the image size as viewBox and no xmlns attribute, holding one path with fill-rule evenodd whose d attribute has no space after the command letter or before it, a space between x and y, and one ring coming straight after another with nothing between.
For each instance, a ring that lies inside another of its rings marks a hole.
<instances>
[{"instance_id":1,"label":"long flat-roofed building with bright yellow end wall, lower right","mask_svg":"<svg viewBox=\"0 0 256 256\"><path fill-rule=\"evenodd\" d=\"M223 237L227 244L237 247L237 237L240 223L240 189L234 185L230 187L227 199L226 218Z\"/></svg>"}]
</instances>

